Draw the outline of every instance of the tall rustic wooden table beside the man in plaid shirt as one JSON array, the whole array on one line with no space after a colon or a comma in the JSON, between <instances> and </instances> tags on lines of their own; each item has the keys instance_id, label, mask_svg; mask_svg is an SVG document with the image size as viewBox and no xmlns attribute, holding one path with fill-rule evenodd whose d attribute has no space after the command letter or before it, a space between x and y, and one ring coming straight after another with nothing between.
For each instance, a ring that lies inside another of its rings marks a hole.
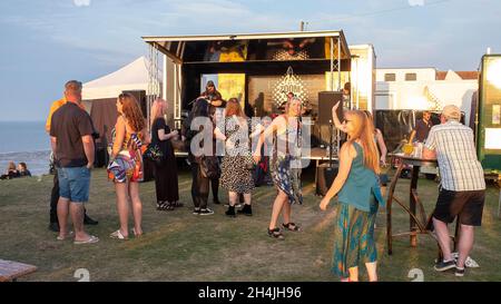
<instances>
[{"instance_id":1,"label":"tall rustic wooden table beside the man in plaid shirt","mask_svg":"<svg viewBox=\"0 0 501 304\"><path fill-rule=\"evenodd\" d=\"M431 234L431 232L426 228L430 224L431 216L428 217L426 213L424 210L424 206L421 203L419 195L418 195L418 178L420 174L421 166L430 166L430 167L436 167L438 163L436 159L423 159L423 158L415 158L411 156L405 156L403 154L390 154L393 159L399 160L399 167L395 171L395 175L393 176L393 179L390 184L390 189L387 193L387 205L386 205L386 239L387 239L387 254L392 254L392 242L393 237L396 236L410 236L411 246L415 247L418 245L418 234ZM392 163L393 164L393 159ZM405 165L412 166L412 178L411 178L411 186L409 189L409 207L395 196L395 187L396 182L400 178L400 174ZM396 202L410 216L410 226L409 232L400 233L400 234L392 234L392 204L393 200ZM416 207L419 207L419 215L416 214ZM432 235L433 236L433 235ZM434 237L434 236L433 236Z\"/></svg>"}]
</instances>

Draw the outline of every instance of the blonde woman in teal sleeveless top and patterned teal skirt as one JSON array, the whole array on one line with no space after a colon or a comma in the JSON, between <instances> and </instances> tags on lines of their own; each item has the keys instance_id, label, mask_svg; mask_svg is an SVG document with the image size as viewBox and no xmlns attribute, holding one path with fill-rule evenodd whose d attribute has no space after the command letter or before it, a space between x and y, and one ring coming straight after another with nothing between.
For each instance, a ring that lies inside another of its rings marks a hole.
<instances>
[{"instance_id":1,"label":"blonde woman in teal sleeveless top and patterned teal skirt","mask_svg":"<svg viewBox=\"0 0 501 304\"><path fill-rule=\"evenodd\" d=\"M377 252L374 220L379 204L384 204L379 186L380 157L374 127L363 111L346 111L343 121L348 140L340 151L340 170L322 199L325 210L337 195L334 228L333 274L342 281L358 281L358 264L367 268L369 280L377 281Z\"/></svg>"}]
</instances>

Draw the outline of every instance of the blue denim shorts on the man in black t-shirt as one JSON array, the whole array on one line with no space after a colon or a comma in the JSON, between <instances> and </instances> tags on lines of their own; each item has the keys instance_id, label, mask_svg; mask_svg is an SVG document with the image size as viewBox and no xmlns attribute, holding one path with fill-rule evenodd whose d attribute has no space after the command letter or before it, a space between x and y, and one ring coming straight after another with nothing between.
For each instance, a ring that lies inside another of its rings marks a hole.
<instances>
[{"instance_id":1,"label":"blue denim shorts on the man in black t-shirt","mask_svg":"<svg viewBox=\"0 0 501 304\"><path fill-rule=\"evenodd\" d=\"M59 196L72 203L89 200L90 170L87 167L58 168Z\"/></svg>"}]
</instances>

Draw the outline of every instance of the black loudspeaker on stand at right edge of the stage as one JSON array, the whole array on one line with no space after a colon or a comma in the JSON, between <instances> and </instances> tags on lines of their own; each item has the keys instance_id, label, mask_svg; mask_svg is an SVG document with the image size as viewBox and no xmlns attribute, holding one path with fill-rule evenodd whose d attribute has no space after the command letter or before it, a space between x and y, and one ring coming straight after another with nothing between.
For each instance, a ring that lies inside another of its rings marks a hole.
<instances>
[{"instance_id":1,"label":"black loudspeaker on stand at right edge of the stage","mask_svg":"<svg viewBox=\"0 0 501 304\"><path fill-rule=\"evenodd\" d=\"M321 144L328 145L331 139L331 120L332 120L332 107L341 101L343 102L342 91L320 91L318 92L318 139ZM337 117L343 119L343 104L337 108ZM334 126L334 121L332 121ZM333 129L333 137L335 138L335 130Z\"/></svg>"}]
</instances>

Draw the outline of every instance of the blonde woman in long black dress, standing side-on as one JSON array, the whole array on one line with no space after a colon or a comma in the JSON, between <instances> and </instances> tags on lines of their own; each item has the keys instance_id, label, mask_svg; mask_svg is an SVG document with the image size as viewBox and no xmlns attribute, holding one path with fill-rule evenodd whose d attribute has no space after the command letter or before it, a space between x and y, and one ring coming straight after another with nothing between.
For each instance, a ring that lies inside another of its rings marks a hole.
<instances>
[{"instance_id":1,"label":"blonde woman in long black dress, standing side-on","mask_svg":"<svg viewBox=\"0 0 501 304\"><path fill-rule=\"evenodd\" d=\"M167 102L156 99L151 107L151 145L158 145L164 155L161 161L155 163L155 189L157 193L157 209L174 210L183 206L179 203L179 188L177 184L177 164L174 156L171 138L178 136L177 130L170 131L166 125L165 115Z\"/></svg>"}]
</instances>

